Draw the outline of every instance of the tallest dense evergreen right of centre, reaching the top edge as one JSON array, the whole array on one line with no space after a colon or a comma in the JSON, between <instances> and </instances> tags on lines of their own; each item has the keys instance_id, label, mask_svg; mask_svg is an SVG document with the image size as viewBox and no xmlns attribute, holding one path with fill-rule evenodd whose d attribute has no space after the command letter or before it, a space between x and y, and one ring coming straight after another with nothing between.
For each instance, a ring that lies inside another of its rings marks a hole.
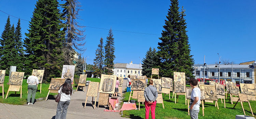
<instances>
[{"instance_id":1,"label":"tallest dense evergreen right of centre, reaching the top edge","mask_svg":"<svg viewBox=\"0 0 256 119\"><path fill-rule=\"evenodd\" d=\"M185 10L179 12L179 2L171 0L171 5L166 16L165 30L162 31L158 43L158 56L160 57L160 75L173 77L173 72L185 72L187 78L193 78L193 55L190 55L190 45L184 19Z\"/></svg>"}]
</instances>

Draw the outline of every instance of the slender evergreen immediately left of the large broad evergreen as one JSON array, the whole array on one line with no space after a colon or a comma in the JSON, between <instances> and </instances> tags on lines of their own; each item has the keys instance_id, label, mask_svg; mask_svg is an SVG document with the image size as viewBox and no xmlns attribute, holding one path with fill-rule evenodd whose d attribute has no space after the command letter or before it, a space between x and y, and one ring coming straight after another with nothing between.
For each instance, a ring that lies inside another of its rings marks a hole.
<instances>
[{"instance_id":1,"label":"slender evergreen immediately left of the large broad evergreen","mask_svg":"<svg viewBox=\"0 0 256 119\"><path fill-rule=\"evenodd\" d=\"M20 27L20 19L18 20L17 26L15 28L14 33L14 49L15 49L15 64L17 66L17 71L23 71L24 68L24 48L22 42L22 34L21 34L21 27Z\"/></svg>"}]
</instances>

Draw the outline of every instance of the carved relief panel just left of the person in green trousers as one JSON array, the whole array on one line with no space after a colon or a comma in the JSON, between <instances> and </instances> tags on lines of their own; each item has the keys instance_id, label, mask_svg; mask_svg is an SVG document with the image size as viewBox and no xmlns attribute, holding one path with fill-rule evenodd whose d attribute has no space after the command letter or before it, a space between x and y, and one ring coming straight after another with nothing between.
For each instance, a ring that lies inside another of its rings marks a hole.
<instances>
[{"instance_id":1,"label":"carved relief panel just left of the person in green trousers","mask_svg":"<svg viewBox=\"0 0 256 119\"><path fill-rule=\"evenodd\" d=\"M12 72L9 85L22 85L24 72Z\"/></svg>"}]
</instances>

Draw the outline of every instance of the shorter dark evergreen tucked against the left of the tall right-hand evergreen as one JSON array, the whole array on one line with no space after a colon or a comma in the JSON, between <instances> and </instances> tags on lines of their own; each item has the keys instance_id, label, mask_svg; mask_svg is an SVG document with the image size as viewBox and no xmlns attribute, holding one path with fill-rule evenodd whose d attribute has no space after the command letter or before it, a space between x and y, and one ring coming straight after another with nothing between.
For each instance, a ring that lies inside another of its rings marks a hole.
<instances>
[{"instance_id":1,"label":"shorter dark evergreen tucked against the left of the tall right-hand evergreen","mask_svg":"<svg viewBox=\"0 0 256 119\"><path fill-rule=\"evenodd\" d=\"M150 47L150 49L146 52L146 57L142 60L142 75L146 75L147 77L151 77L152 68L158 68L158 56L156 49Z\"/></svg>"}]
</instances>

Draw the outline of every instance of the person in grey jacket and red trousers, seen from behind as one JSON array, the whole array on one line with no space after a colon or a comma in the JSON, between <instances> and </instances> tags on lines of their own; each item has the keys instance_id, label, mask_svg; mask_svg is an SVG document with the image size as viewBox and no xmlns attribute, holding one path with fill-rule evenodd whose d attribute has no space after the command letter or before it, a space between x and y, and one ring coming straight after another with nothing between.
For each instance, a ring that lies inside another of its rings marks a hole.
<instances>
[{"instance_id":1,"label":"person in grey jacket and red trousers, seen from behind","mask_svg":"<svg viewBox=\"0 0 256 119\"><path fill-rule=\"evenodd\" d=\"M156 109L156 98L157 98L157 89L153 86L154 81L149 81L149 86L144 90L144 97L145 97L145 119L148 119L149 112L151 109L151 118L155 119L155 109Z\"/></svg>"}]
</instances>

